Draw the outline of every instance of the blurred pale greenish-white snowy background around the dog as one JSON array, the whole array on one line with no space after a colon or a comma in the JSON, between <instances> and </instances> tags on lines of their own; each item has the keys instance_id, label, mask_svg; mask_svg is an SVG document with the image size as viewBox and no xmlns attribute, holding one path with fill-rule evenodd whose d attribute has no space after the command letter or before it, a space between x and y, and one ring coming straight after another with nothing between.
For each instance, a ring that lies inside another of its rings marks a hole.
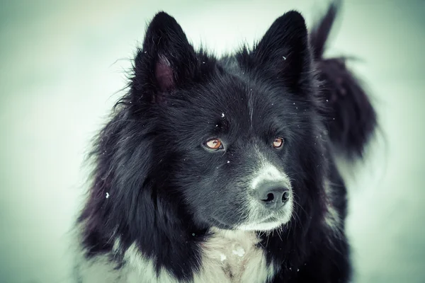
<instances>
[{"instance_id":1,"label":"blurred pale greenish-white snowy background around the dog","mask_svg":"<svg viewBox=\"0 0 425 283\"><path fill-rule=\"evenodd\" d=\"M0 1L0 282L70 282L84 153L154 13L220 54L289 9L310 24L324 2ZM346 1L331 42L362 59L382 130L345 171L356 282L425 282L424 15L425 1Z\"/></svg>"}]
</instances>

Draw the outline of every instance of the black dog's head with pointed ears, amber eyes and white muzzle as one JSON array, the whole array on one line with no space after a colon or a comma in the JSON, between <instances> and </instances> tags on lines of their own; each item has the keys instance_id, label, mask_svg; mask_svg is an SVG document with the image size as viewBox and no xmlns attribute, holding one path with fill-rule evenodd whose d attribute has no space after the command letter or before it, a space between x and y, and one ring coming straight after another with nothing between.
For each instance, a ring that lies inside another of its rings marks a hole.
<instances>
[{"instance_id":1,"label":"black dog's head with pointed ears, amber eyes and white muzzle","mask_svg":"<svg viewBox=\"0 0 425 283\"><path fill-rule=\"evenodd\" d=\"M174 18L158 13L134 65L120 118L132 123L120 139L135 152L120 167L125 190L150 184L146 196L196 226L253 231L288 223L314 198L322 142L300 13L285 13L253 48L220 60L196 52ZM141 135L149 143L137 144Z\"/></svg>"}]
</instances>

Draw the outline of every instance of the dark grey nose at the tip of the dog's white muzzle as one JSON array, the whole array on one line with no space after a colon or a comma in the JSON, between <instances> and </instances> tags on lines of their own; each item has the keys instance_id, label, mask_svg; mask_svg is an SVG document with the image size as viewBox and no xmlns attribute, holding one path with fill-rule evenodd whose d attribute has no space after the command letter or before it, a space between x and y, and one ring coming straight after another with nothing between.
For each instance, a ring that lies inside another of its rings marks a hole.
<instances>
[{"instance_id":1,"label":"dark grey nose at the tip of the dog's white muzzle","mask_svg":"<svg viewBox=\"0 0 425 283\"><path fill-rule=\"evenodd\" d=\"M288 202L290 192L283 183L263 183L257 190L257 197L267 209L278 209Z\"/></svg>"}]
</instances>

